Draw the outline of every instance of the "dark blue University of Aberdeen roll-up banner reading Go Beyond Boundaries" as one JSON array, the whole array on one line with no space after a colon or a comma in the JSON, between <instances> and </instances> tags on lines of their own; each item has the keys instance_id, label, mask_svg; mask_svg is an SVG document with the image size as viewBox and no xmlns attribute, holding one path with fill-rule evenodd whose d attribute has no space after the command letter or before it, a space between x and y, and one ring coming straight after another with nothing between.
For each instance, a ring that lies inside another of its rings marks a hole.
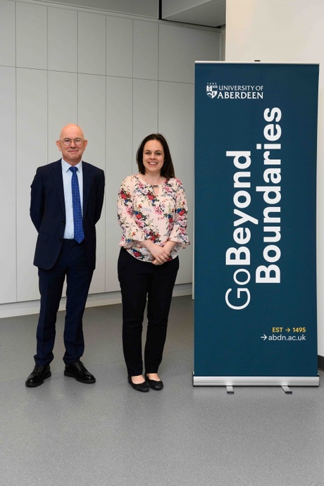
<instances>
[{"instance_id":1,"label":"dark blue University of Aberdeen roll-up banner reading Go Beyond Boundaries","mask_svg":"<svg viewBox=\"0 0 324 486\"><path fill-rule=\"evenodd\" d=\"M196 63L194 385L319 385L318 73Z\"/></svg>"}]
</instances>

